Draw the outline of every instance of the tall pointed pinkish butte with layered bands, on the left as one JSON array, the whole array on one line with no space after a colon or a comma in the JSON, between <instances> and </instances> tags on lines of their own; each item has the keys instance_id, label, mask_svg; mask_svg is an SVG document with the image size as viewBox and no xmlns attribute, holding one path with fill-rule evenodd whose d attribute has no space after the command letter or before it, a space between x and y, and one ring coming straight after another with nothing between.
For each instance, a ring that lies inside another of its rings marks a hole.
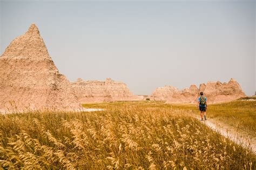
<instances>
[{"instance_id":1,"label":"tall pointed pinkish butte with layered bands, on the left","mask_svg":"<svg viewBox=\"0 0 256 170\"><path fill-rule=\"evenodd\" d=\"M0 108L79 107L70 82L53 63L32 24L0 57Z\"/></svg>"}]
</instances>

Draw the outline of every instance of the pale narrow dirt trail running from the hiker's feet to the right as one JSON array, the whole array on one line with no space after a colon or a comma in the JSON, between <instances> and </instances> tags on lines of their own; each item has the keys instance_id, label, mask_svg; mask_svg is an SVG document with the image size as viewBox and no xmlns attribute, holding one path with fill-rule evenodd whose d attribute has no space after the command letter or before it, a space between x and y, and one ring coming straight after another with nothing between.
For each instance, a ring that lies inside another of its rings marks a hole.
<instances>
[{"instance_id":1,"label":"pale narrow dirt trail running from the hiker's feet to the right","mask_svg":"<svg viewBox=\"0 0 256 170\"><path fill-rule=\"evenodd\" d=\"M199 116L197 116L200 119ZM227 125L217 119L207 119L206 121L202 122L203 124L211 127L212 130L219 132L224 137L227 137L234 141L235 143L242 145L242 146L250 146L252 151L256 153L256 137L241 130L235 128L233 126Z\"/></svg>"}]
</instances>

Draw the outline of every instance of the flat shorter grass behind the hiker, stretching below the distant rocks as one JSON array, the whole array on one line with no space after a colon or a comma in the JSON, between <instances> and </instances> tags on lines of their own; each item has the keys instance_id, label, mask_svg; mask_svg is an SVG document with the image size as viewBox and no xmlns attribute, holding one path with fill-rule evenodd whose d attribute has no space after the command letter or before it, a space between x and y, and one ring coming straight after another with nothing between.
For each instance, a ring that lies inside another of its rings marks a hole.
<instances>
[{"instance_id":1,"label":"flat shorter grass behind the hiker, stretching below the distant rocks","mask_svg":"<svg viewBox=\"0 0 256 170\"><path fill-rule=\"evenodd\" d=\"M231 125L246 133L256 135L256 101L245 101L254 97L241 98L229 103L208 105L207 117L216 119ZM144 107L144 108L174 108L199 115L200 111L195 104L165 104L163 101L133 101L84 104L86 108L109 108L109 107Z\"/></svg>"}]
</instances>

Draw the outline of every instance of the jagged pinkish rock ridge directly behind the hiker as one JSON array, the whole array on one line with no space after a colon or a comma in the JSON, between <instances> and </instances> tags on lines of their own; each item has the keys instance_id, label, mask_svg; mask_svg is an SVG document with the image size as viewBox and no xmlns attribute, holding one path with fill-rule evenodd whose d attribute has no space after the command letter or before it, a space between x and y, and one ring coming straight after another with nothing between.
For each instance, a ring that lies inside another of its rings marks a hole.
<instances>
[{"instance_id":1,"label":"jagged pinkish rock ridge directly behind the hiker","mask_svg":"<svg viewBox=\"0 0 256 170\"><path fill-rule=\"evenodd\" d=\"M173 86L157 88L151 95L151 100L166 100L167 103L197 103L199 93L204 92L208 104L222 103L245 97L240 85L234 79L228 83L209 81L200 87L191 85L189 89L178 90Z\"/></svg>"}]
</instances>

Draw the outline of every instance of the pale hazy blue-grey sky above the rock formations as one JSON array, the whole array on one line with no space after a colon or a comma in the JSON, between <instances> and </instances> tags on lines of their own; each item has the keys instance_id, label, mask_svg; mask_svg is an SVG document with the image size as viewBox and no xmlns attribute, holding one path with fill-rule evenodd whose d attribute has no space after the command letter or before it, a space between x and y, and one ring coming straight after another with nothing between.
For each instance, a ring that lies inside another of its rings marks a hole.
<instances>
[{"instance_id":1,"label":"pale hazy blue-grey sky above the rock formations","mask_svg":"<svg viewBox=\"0 0 256 170\"><path fill-rule=\"evenodd\" d=\"M36 23L70 81L126 83L151 94L207 81L255 83L255 1L1 1L1 54Z\"/></svg>"}]
</instances>

